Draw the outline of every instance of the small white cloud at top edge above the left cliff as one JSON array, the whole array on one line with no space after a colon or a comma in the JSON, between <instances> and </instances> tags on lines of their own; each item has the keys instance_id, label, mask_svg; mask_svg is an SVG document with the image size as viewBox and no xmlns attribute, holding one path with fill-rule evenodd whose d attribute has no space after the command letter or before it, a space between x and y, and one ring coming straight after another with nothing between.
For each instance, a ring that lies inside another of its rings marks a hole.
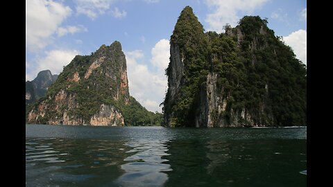
<instances>
[{"instance_id":1,"label":"small white cloud at top edge above the left cliff","mask_svg":"<svg viewBox=\"0 0 333 187\"><path fill-rule=\"evenodd\" d=\"M99 15L103 15L114 1L117 0L76 0L76 13L78 15L86 15L94 20Z\"/></svg>"}]
</instances>

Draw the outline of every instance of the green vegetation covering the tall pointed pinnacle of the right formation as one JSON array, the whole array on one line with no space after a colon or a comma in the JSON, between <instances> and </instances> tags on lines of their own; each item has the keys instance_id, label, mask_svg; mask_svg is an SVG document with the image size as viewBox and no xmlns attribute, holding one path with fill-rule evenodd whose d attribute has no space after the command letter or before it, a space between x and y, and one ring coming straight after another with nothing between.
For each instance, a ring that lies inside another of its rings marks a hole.
<instances>
[{"instance_id":1,"label":"green vegetation covering the tall pointed pinnacle of the right formation","mask_svg":"<svg viewBox=\"0 0 333 187\"><path fill-rule=\"evenodd\" d=\"M176 114L172 123L194 124L194 116L200 103L200 87L208 73L208 40L191 7L185 7L178 17L171 35L171 44L179 47L185 72L178 98L170 106L164 105L164 112L173 111ZM169 64L166 75L170 74ZM166 96L164 103L168 103L168 98L169 96Z\"/></svg>"}]
</instances>

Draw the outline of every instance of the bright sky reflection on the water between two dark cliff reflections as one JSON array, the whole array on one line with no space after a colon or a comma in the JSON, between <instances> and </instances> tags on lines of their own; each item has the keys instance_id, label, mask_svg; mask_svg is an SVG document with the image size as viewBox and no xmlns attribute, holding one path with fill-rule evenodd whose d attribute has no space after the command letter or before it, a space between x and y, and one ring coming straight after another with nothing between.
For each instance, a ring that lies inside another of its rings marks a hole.
<instances>
[{"instance_id":1,"label":"bright sky reflection on the water between two dark cliff reflections","mask_svg":"<svg viewBox=\"0 0 333 187\"><path fill-rule=\"evenodd\" d=\"M127 153L135 153L126 157L127 163L121 165L125 173L116 183L120 186L163 186L168 180L165 172L172 171L167 164L168 148L165 141L129 141L126 143L132 148Z\"/></svg>"}]
</instances>

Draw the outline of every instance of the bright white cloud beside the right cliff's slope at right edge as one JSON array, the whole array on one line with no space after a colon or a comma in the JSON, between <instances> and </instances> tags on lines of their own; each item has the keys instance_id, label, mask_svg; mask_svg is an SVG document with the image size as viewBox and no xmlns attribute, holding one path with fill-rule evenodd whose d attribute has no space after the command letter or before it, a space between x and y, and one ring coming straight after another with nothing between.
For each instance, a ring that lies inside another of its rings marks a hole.
<instances>
[{"instance_id":1,"label":"bright white cloud beside the right cliff's slope at right edge","mask_svg":"<svg viewBox=\"0 0 333 187\"><path fill-rule=\"evenodd\" d=\"M307 64L307 31L297 30L290 35L283 37L284 43L293 49L296 57Z\"/></svg>"}]
</instances>

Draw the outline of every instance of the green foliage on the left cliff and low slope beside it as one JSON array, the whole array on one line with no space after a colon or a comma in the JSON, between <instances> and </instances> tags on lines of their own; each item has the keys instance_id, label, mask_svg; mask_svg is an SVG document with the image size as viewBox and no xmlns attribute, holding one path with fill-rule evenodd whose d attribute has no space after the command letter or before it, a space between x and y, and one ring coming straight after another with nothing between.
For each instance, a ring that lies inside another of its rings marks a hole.
<instances>
[{"instance_id":1,"label":"green foliage on the left cliff and low slope beside it","mask_svg":"<svg viewBox=\"0 0 333 187\"><path fill-rule=\"evenodd\" d=\"M85 78L89 66L99 60L103 62L92 71L89 78ZM37 109L42 102L47 105L45 116L36 123L62 118L65 111L74 120L87 123L99 112L101 105L105 104L113 105L121 112L125 125L161 125L162 114L148 112L135 98L129 96L128 87L125 87L124 91L120 90L121 73L125 69L126 59L119 42L114 42L111 46L102 45L91 55L77 55L64 67L58 80L49 87L46 96L32 107ZM80 78L78 82L72 80L75 73L78 73ZM56 103L56 96L61 91L66 94L67 103Z\"/></svg>"}]
</instances>

